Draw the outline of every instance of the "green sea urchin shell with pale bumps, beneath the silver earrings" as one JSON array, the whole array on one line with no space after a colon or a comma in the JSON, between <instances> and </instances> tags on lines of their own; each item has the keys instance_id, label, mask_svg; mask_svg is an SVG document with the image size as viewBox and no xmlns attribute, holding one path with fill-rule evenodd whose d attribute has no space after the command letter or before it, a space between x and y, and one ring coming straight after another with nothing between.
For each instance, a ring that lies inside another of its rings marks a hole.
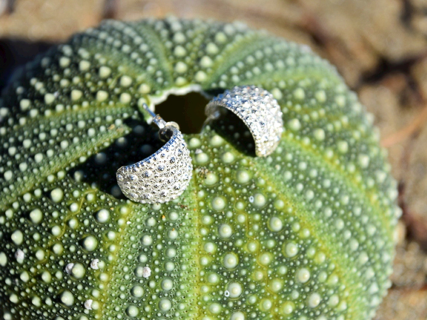
<instances>
[{"instance_id":1,"label":"green sea urchin shell with pale bumps, beneath the silver earrings","mask_svg":"<svg viewBox=\"0 0 427 320\"><path fill-rule=\"evenodd\" d=\"M116 170L160 146L141 103L246 84L281 105L271 156L225 119L184 135L181 197L120 194ZM360 320L390 285L395 183L356 95L307 48L240 24L106 21L2 99L3 319Z\"/></svg>"}]
</instances>

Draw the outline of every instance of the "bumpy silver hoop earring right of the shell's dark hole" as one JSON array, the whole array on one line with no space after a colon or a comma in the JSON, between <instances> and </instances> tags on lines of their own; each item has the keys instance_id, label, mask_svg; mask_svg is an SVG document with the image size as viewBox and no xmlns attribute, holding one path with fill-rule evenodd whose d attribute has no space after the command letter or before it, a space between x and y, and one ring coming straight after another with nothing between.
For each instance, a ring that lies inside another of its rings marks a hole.
<instances>
[{"instance_id":1,"label":"bumpy silver hoop earring right of the shell's dark hole","mask_svg":"<svg viewBox=\"0 0 427 320\"><path fill-rule=\"evenodd\" d=\"M254 85L226 90L206 106L208 119L219 118L220 107L243 120L254 138L257 156L266 157L277 148L283 132L283 119L280 106L269 91Z\"/></svg>"}]
</instances>

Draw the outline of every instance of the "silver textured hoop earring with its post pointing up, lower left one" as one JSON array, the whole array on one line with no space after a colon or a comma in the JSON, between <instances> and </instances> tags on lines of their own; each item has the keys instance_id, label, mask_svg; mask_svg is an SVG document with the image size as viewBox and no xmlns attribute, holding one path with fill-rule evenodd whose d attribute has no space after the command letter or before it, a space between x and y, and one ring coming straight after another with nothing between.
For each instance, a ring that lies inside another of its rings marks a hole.
<instances>
[{"instance_id":1,"label":"silver textured hoop earring with its post pointing up, lower left one","mask_svg":"<svg viewBox=\"0 0 427 320\"><path fill-rule=\"evenodd\" d=\"M151 156L117 170L117 183L123 194L139 203L165 203L180 196L187 188L193 165L190 150L175 122L165 122L158 114L143 108L159 127L159 137L167 141Z\"/></svg>"}]
</instances>

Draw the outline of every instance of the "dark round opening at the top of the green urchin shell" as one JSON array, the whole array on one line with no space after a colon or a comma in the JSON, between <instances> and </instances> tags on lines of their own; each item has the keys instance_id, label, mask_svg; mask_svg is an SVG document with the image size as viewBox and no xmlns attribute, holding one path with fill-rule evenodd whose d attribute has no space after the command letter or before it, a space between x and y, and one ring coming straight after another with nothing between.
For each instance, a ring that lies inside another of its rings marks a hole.
<instances>
[{"instance_id":1,"label":"dark round opening at the top of the green urchin shell","mask_svg":"<svg viewBox=\"0 0 427 320\"><path fill-rule=\"evenodd\" d=\"M165 121L175 121L182 133L200 133L206 119L205 106L209 100L198 92L184 95L170 94L167 99L156 105L155 113Z\"/></svg>"}]
</instances>

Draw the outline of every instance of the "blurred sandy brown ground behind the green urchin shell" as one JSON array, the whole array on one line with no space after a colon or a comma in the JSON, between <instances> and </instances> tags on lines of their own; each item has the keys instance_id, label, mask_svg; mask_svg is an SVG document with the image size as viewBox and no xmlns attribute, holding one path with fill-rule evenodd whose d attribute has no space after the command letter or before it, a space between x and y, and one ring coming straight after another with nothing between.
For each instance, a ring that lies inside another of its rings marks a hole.
<instances>
[{"instance_id":1,"label":"blurred sandy brown ground behind the green urchin shell","mask_svg":"<svg viewBox=\"0 0 427 320\"><path fill-rule=\"evenodd\" d=\"M403 217L376 320L427 319L427 0L0 0L0 89L18 65L102 19L242 21L330 60L375 116Z\"/></svg>"}]
</instances>

